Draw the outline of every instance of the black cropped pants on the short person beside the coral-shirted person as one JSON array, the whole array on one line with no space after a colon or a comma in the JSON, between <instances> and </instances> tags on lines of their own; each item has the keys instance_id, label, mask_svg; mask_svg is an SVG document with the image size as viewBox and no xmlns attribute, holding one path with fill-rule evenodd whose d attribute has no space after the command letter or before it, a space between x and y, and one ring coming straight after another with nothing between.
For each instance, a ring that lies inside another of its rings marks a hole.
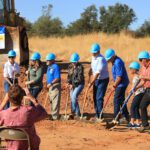
<instances>
[{"instance_id":1,"label":"black cropped pants on the short person beside the coral-shirted person","mask_svg":"<svg viewBox=\"0 0 150 150\"><path fill-rule=\"evenodd\" d=\"M133 101L130 107L131 118L134 118L134 119L141 118L139 109L140 109L140 103L142 101L143 95L144 93L140 93L133 98Z\"/></svg>"}]
</instances>

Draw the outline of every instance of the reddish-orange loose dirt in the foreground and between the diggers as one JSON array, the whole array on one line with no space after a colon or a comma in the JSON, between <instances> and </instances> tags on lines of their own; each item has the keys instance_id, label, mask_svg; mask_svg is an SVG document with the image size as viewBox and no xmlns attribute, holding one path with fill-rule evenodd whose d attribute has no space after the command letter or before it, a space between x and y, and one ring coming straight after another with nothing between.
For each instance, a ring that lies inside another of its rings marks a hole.
<instances>
[{"instance_id":1,"label":"reddish-orange loose dirt in the foreground and between the diggers","mask_svg":"<svg viewBox=\"0 0 150 150\"><path fill-rule=\"evenodd\" d=\"M61 67L61 79L62 79L62 99L61 99L61 114L64 114L65 100L66 100L66 90L65 82L67 75L67 63L59 63ZM128 66L128 64L127 64ZM85 76L87 82L87 73L90 65L89 63L84 63ZM25 77L25 67L21 68L21 77L19 83L24 86ZM130 80L131 80L131 75ZM4 96L3 93L3 78L2 71L0 72L0 94L1 98ZM45 76L43 83L45 85ZM85 89L86 89L85 84ZM106 97L108 96L112 85L112 79L110 80L110 85L108 87ZM127 90L129 93L130 86ZM80 108L82 107L84 92L79 97ZM38 96L38 101L44 105L46 98L46 88L44 86L43 90ZM86 102L85 113L89 117L94 116L92 91L89 92L89 101ZM132 100L132 99L131 99ZM128 104L130 107L131 100ZM113 113L113 96L105 109L104 116L107 119L112 118ZM46 110L50 114L50 106L47 102ZM69 110L70 113L70 104ZM133 130L117 130L108 131L105 129L105 123L91 124L89 122L81 122L76 120L69 121L50 121L43 120L36 124L36 130L41 138L40 150L149 150L150 149L150 135L148 133L138 133Z\"/></svg>"}]
</instances>

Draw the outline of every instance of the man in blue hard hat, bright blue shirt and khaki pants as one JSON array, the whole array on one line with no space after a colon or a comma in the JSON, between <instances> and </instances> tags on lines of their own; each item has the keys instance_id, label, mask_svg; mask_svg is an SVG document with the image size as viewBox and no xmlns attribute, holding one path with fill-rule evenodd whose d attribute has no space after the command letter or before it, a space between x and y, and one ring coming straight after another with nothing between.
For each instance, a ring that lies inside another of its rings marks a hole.
<instances>
[{"instance_id":1,"label":"man in blue hard hat, bright blue shirt and khaki pants","mask_svg":"<svg viewBox=\"0 0 150 150\"><path fill-rule=\"evenodd\" d=\"M59 66L55 63L56 56L49 53L46 56L47 72L46 83L49 90L49 100L51 104L52 120L59 119L60 99L61 99L61 76Z\"/></svg>"}]
</instances>

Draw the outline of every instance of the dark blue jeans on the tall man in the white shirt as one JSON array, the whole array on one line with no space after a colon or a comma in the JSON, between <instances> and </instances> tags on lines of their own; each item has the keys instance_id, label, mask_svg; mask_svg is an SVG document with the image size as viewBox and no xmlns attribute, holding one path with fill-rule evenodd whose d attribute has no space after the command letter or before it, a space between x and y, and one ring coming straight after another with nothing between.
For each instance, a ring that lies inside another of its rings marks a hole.
<instances>
[{"instance_id":1,"label":"dark blue jeans on the tall man in the white shirt","mask_svg":"<svg viewBox=\"0 0 150 150\"><path fill-rule=\"evenodd\" d=\"M103 108L104 96L109 83L109 78L103 80L95 80L93 86L93 99L96 117L100 117Z\"/></svg>"}]
</instances>

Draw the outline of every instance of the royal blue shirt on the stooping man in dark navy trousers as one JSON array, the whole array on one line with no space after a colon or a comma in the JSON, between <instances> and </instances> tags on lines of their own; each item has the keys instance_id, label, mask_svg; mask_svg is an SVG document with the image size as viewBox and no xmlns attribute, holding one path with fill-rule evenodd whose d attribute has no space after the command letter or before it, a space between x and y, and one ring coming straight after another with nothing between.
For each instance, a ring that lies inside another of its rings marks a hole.
<instances>
[{"instance_id":1,"label":"royal blue shirt on the stooping man in dark navy trousers","mask_svg":"<svg viewBox=\"0 0 150 150\"><path fill-rule=\"evenodd\" d=\"M114 81L116 81L117 77L121 77L121 82L119 83L118 87L124 87L129 84L129 78L124 62L117 56L112 64L112 75Z\"/></svg>"}]
</instances>

